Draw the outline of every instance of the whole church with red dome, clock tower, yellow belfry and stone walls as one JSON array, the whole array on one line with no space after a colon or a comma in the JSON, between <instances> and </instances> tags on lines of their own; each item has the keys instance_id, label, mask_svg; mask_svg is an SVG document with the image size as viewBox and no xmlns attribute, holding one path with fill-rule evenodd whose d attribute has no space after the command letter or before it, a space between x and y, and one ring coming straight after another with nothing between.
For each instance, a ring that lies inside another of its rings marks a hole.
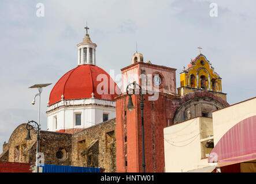
<instances>
[{"instance_id":1,"label":"whole church with red dome, clock tower, yellow belfry and stone walls","mask_svg":"<svg viewBox=\"0 0 256 184\"><path fill-rule=\"evenodd\" d=\"M88 30L88 28L86 27ZM144 62L134 53L131 65L121 69L122 89L96 66L96 47L88 32L77 45L77 67L55 84L47 106L47 131L40 131L39 152L45 164L102 167L105 172L142 172L142 127L139 95L128 84L136 81L144 93L146 172L164 172L164 128L229 104L221 78L201 53L180 73L176 69ZM107 91L103 88L104 78ZM19 125L3 145L0 161L35 163L36 134L26 141L25 124Z\"/></svg>"}]
</instances>

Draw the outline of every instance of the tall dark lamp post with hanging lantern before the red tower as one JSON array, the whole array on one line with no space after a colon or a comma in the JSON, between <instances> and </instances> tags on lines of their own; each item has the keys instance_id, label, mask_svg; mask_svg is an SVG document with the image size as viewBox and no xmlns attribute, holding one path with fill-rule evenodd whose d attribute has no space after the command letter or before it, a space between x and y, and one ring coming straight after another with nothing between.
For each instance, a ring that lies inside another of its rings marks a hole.
<instances>
[{"instance_id":1,"label":"tall dark lamp post with hanging lantern before the red tower","mask_svg":"<svg viewBox=\"0 0 256 184\"><path fill-rule=\"evenodd\" d=\"M130 85L133 85L133 89L132 89L132 93L129 94L128 87ZM132 103L131 95L135 94L136 86L139 87L140 109L142 110L142 170L143 170L143 173L145 173L146 163L145 163L145 153L144 153L144 116L143 116L143 109L144 109L144 102L143 101L144 101L144 99L143 99L143 94L142 94L142 87L140 85L138 85L135 81L132 82L132 83L129 83L127 88L126 88L126 93L129 95L128 104L127 104L126 108L129 110L129 112L131 112L132 109L135 108L135 106L133 106L133 103Z\"/></svg>"}]
</instances>

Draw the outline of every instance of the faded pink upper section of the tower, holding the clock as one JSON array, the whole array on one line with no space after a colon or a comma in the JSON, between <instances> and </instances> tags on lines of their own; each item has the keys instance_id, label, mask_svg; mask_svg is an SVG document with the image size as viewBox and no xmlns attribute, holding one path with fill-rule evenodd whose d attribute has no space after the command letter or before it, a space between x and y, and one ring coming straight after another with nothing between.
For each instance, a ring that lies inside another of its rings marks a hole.
<instances>
[{"instance_id":1,"label":"faded pink upper section of the tower, holding the clock","mask_svg":"<svg viewBox=\"0 0 256 184\"><path fill-rule=\"evenodd\" d=\"M122 92L126 93L129 83L135 81L144 92L176 94L176 69L143 62L142 53L135 52L132 56L132 64L121 69Z\"/></svg>"}]
</instances>

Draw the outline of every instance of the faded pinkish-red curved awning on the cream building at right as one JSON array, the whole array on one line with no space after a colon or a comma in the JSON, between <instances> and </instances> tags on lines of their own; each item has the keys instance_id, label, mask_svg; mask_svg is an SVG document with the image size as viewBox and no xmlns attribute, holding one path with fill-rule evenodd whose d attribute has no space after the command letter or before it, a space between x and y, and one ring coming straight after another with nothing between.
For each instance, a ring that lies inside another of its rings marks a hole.
<instances>
[{"instance_id":1,"label":"faded pinkish-red curved awning on the cream building at right","mask_svg":"<svg viewBox=\"0 0 256 184\"><path fill-rule=\"evenodd\" d=\"M221 137L208 162L217 167L256 159L256 116L240 121Z\"/></svg>"}]
</instances>

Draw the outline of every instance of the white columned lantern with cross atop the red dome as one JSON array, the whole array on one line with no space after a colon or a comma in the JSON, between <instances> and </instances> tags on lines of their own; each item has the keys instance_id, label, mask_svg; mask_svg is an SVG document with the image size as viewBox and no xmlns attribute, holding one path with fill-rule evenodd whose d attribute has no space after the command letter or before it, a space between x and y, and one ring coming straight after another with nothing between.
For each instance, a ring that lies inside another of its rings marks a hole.
<instances>
[{"instance_id":1,"label":"white columned lantern with cross atop the red dome","mask_svg":"<svg viewBox=\"0 0 256 184\"><path fill-rule=\"evenodd\" d=\"M78 48L78 65L81 64L93 64L96 65L96 47L95 43L92 43L88 34L88 27L86 26L86 35L83 41L77 45Z\"/></svg>"}]
</instances>

